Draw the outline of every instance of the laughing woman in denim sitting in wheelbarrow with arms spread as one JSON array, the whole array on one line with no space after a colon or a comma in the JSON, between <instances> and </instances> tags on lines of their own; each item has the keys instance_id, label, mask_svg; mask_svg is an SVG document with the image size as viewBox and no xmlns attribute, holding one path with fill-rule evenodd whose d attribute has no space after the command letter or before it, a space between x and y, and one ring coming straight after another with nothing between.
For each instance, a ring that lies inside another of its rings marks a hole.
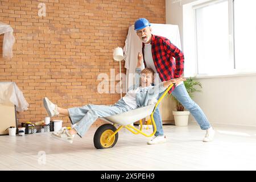
<instances>
[{"instance_id":1,"label":"laughing woman in denim sitting in wheelbarrow with arms spread","mask_svg":"<svg viewBox=\"0 0 256 182\"><path fill-rule=\"evenodd\" d=\"M141 53L138 53L135 85L129 88L126 95L118 100L114 105L106 106L88 104L82 107L63 109L58 107L56 104L53 104L47 97L45 97L43 102L49 117L54 117L58 114L66 115L71 119L72 125L76 124L71 130L63 127L60 131L52 133L52 136L72 143L75 134L82 137L98 117L108 117L110 115L125 113L126 111L137 109L138 107L147 106L148 101L158 97L158 94L164 92L169 85L172 83L177 84L178 82L185 80L185 78L179 78L163 81L156 86L152 86L151 84L154 80L154 71L151 68L141 70L141 64L142 55ZM140 78L138 75L140 75Z\"/></svg>"}]
</instances>

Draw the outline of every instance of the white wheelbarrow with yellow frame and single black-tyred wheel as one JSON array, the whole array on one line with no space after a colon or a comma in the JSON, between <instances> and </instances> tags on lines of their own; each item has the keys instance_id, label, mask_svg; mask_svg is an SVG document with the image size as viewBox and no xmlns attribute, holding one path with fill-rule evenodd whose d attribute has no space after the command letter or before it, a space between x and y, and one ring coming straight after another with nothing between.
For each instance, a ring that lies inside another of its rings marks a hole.
<instances>
[{"instance_id":1,"label":"white wheelbarrow with yellow frame and single black-tyred wheel","mask_svg":"<svg viewBox=\"0 0 256 182\"><path fill-rule=\"evenodd\" d=\"M174 84L168 86L156 104L139 107L138 109L133 109L121 114L111 115L108 117L100 117L100 119L110 123L106 123L98 127L93 137L94 147L97 149L114 147L118 140L118 131L120 131L123 127L131 131L133 134L142 134L145 137L152 137L156 133L156 125L153 117L155 109L162 101L164 96L166 96L168 91L172 88L172 86L174 86ZM154 130L151 134L146 134L142 131L142 119L148 115L150 115L152 125L154 126ZM131 123L137 121L140 123L140 129L137 129L131 125ZM119 125L118 129L115 127L116 125Z\"/></svg>"}]
</instances>

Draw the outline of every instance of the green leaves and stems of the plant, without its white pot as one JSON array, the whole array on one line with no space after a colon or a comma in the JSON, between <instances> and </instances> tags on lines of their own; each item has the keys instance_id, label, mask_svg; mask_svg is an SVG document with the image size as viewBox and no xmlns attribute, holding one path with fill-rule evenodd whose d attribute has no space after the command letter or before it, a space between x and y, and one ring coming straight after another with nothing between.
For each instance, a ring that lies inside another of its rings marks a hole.
<instances>
[{"instance_id":1,"label":"green leaves and stems of the plant, without its white pot","mask_svg":"<svg viewBox=\"0 0 256 182\"><path fill-rule=\"evenodd\" d=\"M193 80L191 77L187 78L186 81L184 81L185 88L187 89L189 97L193 98L194 92L201 92L201 90L197 89L196 86L202 88L202 84L199 81ZM176 100L174 96L172 96L172 99L176 102L176 109L177 111L184 111L184 106L180 104L179 101Z\"/></svg>"}]
</instances>

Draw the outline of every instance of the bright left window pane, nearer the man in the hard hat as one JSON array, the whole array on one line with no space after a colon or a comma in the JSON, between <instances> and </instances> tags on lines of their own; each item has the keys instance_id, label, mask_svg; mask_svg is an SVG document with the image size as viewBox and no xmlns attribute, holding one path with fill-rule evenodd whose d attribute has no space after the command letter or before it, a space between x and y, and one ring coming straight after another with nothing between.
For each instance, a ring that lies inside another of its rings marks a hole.
<instances>
[{"instance_id":1,"label":"bright left window pane, nearer the man in the hard hat","mask_svg":"<svg viewBox=\"0 0 256 182\"><path fill-rule=\"evenodd\" d=\"M197 71L214 73L232 66L229 58L228 1L196 9Z\"/></svg>"}]
</instances>

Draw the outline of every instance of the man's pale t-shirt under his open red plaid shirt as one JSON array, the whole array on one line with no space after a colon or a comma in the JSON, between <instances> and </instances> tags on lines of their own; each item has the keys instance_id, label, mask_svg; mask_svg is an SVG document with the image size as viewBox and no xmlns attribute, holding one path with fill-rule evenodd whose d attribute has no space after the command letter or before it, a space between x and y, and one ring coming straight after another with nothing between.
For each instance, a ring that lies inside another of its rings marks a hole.
<instances>
[{"instance_id":1,"label":"man's pale t-shirt under his open red plaid shirt","mask_svg":"<svg viewBox=\"0 0 256 182\"><path fill-rule=\"evenodd\" d=\"M155 73L157 73L155 75L155 85L157 85L160 82L162 82L160 80L159 74L158 74L158 72L156 71L156 68L155 68L155 64L154 64L154 60L153 60L153 56L152 56L151 44L150 43L145 44L145 46L144 46L144 60L146 62L147 68L151 68L151 69L154 70ZM178 86L178 85L180 85L182 83L183 83L183 81L181 81L176 86Z\"/></svg>"}]
</instances>

